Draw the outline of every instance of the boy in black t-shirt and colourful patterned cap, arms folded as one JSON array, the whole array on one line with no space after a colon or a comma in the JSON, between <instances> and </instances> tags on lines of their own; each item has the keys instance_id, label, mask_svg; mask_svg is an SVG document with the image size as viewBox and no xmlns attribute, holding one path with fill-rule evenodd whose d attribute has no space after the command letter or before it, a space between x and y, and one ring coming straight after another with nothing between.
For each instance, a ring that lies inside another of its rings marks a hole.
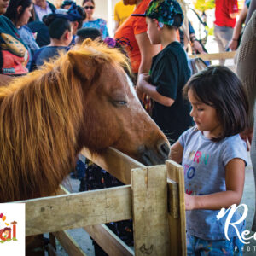
<instances>
[{"instance_id":1,"label":"boy in black t-shirt and colourful patterned cap, arms folded","mask_svg":"<svg viewBox=\"0 0 256 256\"><path fill-rule=\"evenodd\" d=\"M183 47L177 42L183 11L176 0L152 0L144 16L151 44L161 44L163 49L153 57L150 75L139 75L137 95L145 93L153 99L152 119L174 143L193 125L189 102L182 95L189 66Z\"/></svg>"}]
</instances>

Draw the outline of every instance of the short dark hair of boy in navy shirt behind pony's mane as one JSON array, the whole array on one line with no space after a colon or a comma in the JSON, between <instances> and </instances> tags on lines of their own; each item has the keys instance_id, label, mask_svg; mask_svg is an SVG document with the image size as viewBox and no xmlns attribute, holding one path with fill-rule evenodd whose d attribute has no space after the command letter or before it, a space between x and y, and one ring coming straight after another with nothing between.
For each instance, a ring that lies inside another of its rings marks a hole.
<instances>
[{"instance_id":1,"label":"short dark hair of boy in navy shirt behind pony's mane","mask_svg":"<svg viewBox=\"0 0 256 256\"><path fill-rule=\"evenodd\" d=\"M70 20L58 17L55 14L46 15L43 17L44 24L49 28L49 37L61 39L66 30L71 31Z\"/></svg>"}]
</instances>

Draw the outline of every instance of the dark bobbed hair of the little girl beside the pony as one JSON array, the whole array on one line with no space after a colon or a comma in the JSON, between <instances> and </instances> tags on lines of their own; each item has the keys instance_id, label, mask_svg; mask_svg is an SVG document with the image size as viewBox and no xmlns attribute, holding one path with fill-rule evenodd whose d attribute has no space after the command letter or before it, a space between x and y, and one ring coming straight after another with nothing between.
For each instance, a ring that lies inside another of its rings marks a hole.
<instances>
[{"instance_id":1,"label":"dark bobbed hair of the little girl beside the pony","mask_svg":"<svg viewBox=\"0 0 256 256\"><path fill-rule=\"evenodd\" d=\"M223 131L212 141L236 135L247 128L248 100L240 79L228 67L211 66L193 75L183 88L195 98L216 109Z\"/></svg>"}]
</instances>

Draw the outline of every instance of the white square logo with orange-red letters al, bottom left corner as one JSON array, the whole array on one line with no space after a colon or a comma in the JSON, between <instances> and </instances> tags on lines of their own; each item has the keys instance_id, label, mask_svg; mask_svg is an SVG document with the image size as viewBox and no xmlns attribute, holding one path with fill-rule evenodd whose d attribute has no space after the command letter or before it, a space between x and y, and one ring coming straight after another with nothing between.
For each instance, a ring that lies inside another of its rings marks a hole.
<instances>
[{"instance_id":1,"label":"white square logo with orange-red letters al, bottom left corner","mask_svg":"<svg viewBox=\"0 0 256 256\"><path fill-rule=\"evenodd\" d=\"M25 256L25 204L0 203L0 252Z\"/></svg>"}]
</instances>

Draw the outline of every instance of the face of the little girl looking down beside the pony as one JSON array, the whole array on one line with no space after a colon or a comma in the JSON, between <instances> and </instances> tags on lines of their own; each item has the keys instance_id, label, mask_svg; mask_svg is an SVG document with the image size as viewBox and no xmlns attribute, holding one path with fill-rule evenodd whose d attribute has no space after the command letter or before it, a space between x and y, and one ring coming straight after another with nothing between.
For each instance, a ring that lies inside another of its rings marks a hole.
<instances>
[{"instance_id":1,"label":"face of the little girl looking down beside the pony","mask_svg":"<svg viewBox=\"0 0 256 256\"><path fill-rule=\"evenodd\" d=\"M189 102L192 105L190 115L195 122L196 128L204 131L204 135L209 138L218 137L222 131L222 127L218 121L216 109L199 102L192 90L189 90L188 96Z\"/></svg>"}]
</instances>

